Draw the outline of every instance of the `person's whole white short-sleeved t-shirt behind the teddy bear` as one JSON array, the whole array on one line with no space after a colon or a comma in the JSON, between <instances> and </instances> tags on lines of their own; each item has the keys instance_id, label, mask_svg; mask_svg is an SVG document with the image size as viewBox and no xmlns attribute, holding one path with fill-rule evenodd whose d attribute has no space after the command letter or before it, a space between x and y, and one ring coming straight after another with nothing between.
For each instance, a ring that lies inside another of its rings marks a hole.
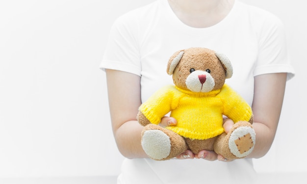
<instances>
[{"instance_id":1,"label":"person's whole white short-sleeved t-shirt behind the teddy bear","mask_svg":"<svg viewBox=\"0 0 307 184\"><path fill-rule=\"evenodd\" d=\"M173 84L166 73L168 59L176 51L190 47L226 54L233 66L233 76L226 83L250 105L255 76L286 72L290 79L294 75L281 21L238 0L225 19L207 28L183 24L167 0L157 0L128 12L112 26L100 67L141 76L144 102L160 87ZM238 184L242 179L251 183L250 177L255 177L251 159L225 163L140 158L125 159L118 181L119 184L219 184L219 181Z\"/></svg>"}]
</instances>

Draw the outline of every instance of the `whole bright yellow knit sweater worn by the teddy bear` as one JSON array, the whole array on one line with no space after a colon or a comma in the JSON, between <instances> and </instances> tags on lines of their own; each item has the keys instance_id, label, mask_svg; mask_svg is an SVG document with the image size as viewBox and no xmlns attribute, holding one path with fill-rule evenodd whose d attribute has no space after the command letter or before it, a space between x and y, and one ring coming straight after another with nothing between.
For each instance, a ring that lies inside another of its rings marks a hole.
<instances>
[{"instance_id":1,"label":"whole bright yellow knit sweater worn by the teddy bear","mask_svg":"<svg viewBox=\"0 0 307 184\"><path fill-rule=\"evenodd\" d=\"M207 93L166 86L156 91L139 110L156 125L171 111L177 126L167 129L191 139L208 139L223 133L223 114L235 123L249 121L252 116L251 107L226 84L220 90Z\"/></svg>"}]
</instances>

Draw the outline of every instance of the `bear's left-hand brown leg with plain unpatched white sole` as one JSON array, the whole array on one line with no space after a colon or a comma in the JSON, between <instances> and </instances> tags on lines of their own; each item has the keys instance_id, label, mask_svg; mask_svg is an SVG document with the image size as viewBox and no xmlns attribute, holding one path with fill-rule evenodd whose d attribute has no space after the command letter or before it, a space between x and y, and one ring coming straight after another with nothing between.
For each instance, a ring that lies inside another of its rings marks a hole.
<instances>
[{"instance_id":1,"label":"bear's left-hand brown leg with plain unpatched white sole","mask_svg":"<svg viewBox=\"0 0 307 184\"><path fill-rule=\"evenodd\" d=\"M172 143L175 139L176 144ZM145 153L154 160L174 158L187 149L181 136L153 124L144 127L141 144Z\"/></svg>"}]
</instances>

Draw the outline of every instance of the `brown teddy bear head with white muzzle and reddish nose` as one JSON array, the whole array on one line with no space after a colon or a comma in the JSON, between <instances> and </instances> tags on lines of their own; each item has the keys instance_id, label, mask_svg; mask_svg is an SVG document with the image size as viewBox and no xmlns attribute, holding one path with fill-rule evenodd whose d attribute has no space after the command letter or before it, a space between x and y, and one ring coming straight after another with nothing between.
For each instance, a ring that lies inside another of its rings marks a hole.
<instances>
[{"instance_id":1,"label":"brown teddy bear head with white muzzle and reddish nose","mask_svg":"<svg viewBox=\"0 0 307 184\"><path fill-rule=\"evenodd\" d=\"M232 65L222 53L206 48L189 48L170 57L167 73L173 75L177 87L205 93L222 88L225 79L232 76Z\"/></svg>"}]
</instances>

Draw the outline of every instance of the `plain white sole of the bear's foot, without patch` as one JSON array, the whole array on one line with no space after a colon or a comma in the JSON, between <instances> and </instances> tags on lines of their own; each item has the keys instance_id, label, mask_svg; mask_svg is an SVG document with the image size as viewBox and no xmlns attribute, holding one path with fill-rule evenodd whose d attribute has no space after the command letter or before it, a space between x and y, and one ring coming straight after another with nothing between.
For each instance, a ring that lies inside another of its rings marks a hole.
<instances>
[{"instance_id":1,"label":"plain white sole of the bear's foot, without patch","mask_svg":"<svg viewBox=\"0 0 307 184\"><path fill-rule=\"evenodd\" d=\"M160 130L144 131L141 144L145 153L155 160L167 158L171 153L170 137Z\"/></svg>"}]
</instances>

